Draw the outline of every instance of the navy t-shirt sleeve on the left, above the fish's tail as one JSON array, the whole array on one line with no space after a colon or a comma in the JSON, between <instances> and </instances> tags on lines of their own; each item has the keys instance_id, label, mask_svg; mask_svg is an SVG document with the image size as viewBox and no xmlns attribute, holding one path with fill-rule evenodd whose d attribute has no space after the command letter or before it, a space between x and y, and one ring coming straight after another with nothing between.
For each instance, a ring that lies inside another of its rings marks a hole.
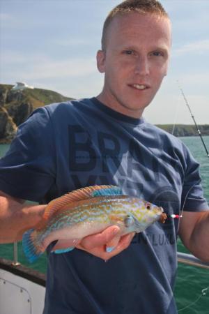
<instances>
[{"instance_id":1,"label":"navy t-shirt sleeve on the left, above the fish's tail","mask_svg":"<svg viewBox=\"0 0 209 314\"><path fill-rule=\"evenodd\" d=\"M18 128L6 156L0 159L0 190L24 200L42 200L56 177L53 132L45 107Z\"/></svg>"}]
</instances>

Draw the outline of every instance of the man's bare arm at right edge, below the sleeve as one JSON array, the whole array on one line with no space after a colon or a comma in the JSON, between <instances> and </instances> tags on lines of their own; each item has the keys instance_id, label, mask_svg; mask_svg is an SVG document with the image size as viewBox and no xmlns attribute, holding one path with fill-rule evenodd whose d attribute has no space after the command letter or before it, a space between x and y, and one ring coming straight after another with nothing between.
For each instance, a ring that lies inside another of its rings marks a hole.
<instances>
[{"instance_id":1,"label":"man's bare arm at right edge, below the sleeve","mask_svg":"<svg viewBox=\"0 0 209 314\"><path fill-rule=\"evenodd\" d=\"M203 262L209 262L209 211L184 211L179 235L192 254Z\"/></svg>"}]
</instances>

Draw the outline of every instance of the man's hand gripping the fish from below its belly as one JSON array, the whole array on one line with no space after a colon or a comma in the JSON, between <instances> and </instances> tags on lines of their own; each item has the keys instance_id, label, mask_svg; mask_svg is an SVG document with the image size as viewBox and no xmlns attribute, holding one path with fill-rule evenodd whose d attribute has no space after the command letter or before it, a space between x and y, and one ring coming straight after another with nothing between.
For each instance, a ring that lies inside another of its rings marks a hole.
<instances>
[{"instance_id":1,"label":"man's hand gripping the fish from below its belly","mask_svg":"<svg viewBox=\"0 0 209 314\"><path fill-rule=\"evenodd\" d=\"M109 260L114 255L125 250L134 237L134 232L125 234L122 237L120 233L118 226L111 225L98 234L85 237L76 248L100 257L102 260Z\"/></svg>"}]
</instances>

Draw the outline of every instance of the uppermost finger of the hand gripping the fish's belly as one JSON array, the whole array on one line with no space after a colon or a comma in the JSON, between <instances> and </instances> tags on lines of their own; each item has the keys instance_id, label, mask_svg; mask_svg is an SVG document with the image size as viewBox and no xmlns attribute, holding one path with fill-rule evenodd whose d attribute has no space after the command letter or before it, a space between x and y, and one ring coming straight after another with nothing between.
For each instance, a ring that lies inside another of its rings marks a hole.
<instances>
[{"instance_id":1,"label":"uppermost finger of the hand gripping the fish's belly","mask_svg":"<svg viewBox=\"0 0 209 314\"><path fill-rule=\"evenodd\" d=\"M113 239L119 231L120 228L117 225L111 225L98 234L91 234L88 237L84 237L80 244L86 250L98 246L104 246L104 244L107 244L109 241L111 241L111 239Z\"/></svg>"}]
</instances>

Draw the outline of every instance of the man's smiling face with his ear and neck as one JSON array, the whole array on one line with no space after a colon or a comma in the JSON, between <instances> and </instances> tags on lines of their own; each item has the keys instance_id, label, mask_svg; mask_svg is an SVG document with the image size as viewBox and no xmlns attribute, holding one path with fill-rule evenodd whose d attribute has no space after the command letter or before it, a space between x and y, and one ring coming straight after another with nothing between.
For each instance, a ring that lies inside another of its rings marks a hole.
<instances>
[{"instance_id":1,"label":"man's smiling face with his ear and neck","mask_svg":"<svg viewBox=\"0 0 209 314\"><path fill-rule=\"evenodd\" d=\"M141 117L167 75L170 47L166 17L139 13L114 17L105 51L97 56L98 69L104 73L98 99L118 112Z\"/></svg>"}]
</instances>

